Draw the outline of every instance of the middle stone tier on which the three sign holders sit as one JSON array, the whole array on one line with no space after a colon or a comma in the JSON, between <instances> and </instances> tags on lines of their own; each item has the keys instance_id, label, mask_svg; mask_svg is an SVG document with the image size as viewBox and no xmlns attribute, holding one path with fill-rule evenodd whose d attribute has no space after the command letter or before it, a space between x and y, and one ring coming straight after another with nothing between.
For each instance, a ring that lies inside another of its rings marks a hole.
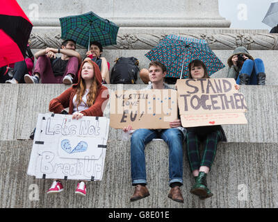
<instances>
[{"instance_id":1,"label":"middle stone tier on which the three sign holders sit","mask_svg":"<svg viewBox=\"0 0 278 222\"><path fill-rule=\"evenodd\" d=\"M110 92L144 89L146 85L106 85ZM28 139L38 113L49 112L49 101L67 89L57 84L0 84L0 141ZM172 86L174 87L174 85ZM278 142L278 86L242 85L247 102L247 125L223 125L228 142ZM109 117L110 103L104 110ZM121 139L122 130L110 128L109 139Z\"/></svg>"}]
</instances>

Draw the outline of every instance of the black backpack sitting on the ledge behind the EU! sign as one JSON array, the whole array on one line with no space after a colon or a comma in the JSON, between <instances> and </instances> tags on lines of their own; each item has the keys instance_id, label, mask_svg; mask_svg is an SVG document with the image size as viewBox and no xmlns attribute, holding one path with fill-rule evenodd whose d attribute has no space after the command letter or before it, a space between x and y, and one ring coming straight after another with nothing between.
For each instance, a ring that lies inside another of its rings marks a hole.
<instances>
[{"instance_id":1,"label":"black backpack sitting on the ledge behind the EU! sign","mask_svg":"<svg viewBox=\"0 0 278 222\"><path fill-rule=\"evenodd\" d=\"M134 57L120 57L115 60L111 71L111 83L135 84L139 71L139 61Z\"/></svg>"}]
</instances>

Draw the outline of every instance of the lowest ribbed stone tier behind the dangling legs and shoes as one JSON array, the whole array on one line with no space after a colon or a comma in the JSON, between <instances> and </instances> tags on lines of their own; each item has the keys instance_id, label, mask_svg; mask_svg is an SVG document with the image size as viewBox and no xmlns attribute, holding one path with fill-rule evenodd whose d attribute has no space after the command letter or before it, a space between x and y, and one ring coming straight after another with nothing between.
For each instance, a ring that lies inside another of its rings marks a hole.
<instances>
[{"instance_id":1,"label":"lowest ribbed stone tier behind the dangling legs and shoes","mask_svg":"<svg viewBox=\"0 0 278 222\"><path fill-rule=\"evenodd\" d=\"M133 194L129 146L129 142L108 141L103 180L88 182L88 194L82 198L74 194L76 181L63 181L65 190L49 196L46 191L51 180L35 179L26 174L31 141L0 141L0 207L277 207L277 143L220 143L207 177L213 196L206 200L199 200L189 192L193 177L184 153L183 204L167 198L170 191L167 185L168 148L162 141L151 142L145 148L147 187L151 195L129 202ZM34 191L38 191L38 200L32 200Z\"/></svg>"}]
</instances>

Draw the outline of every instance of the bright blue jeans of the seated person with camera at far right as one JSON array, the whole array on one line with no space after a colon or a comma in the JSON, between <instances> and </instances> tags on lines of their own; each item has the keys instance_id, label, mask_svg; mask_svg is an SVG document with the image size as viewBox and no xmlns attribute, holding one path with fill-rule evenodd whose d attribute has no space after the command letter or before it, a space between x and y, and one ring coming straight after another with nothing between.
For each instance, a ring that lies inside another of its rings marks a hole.
<instances>
[{"instance_id":1,"label":"bright blue jeans of the seated person with camera at far right","mask_svg":"<svg viewBox=\"0 0 278 222\"><path fill-rule=\"evenodd\" d=\"M263 65L263 60L261 60L260 58L256 58L254 61L245 60L245 62L243 63L243 67L241 68L238 74L238 78L236 79L236 84L239 84L240 82L239 79L240 74L247 74L250 77L248 85L258 85L256 76L260 72L263 73L265 72L265 66Z\"/></svg>"}]
</instances>

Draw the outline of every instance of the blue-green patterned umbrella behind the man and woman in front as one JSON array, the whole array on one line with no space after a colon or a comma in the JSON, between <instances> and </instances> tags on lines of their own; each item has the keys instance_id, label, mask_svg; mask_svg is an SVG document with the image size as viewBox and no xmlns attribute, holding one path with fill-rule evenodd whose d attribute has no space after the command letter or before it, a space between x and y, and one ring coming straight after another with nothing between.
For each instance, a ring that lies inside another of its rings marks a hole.
<instances>
[{"instance_id":1,"label":"blue-green patterned umbrella behind the man and woman in front","mask_svg":"<svg viewBox=\"0 0 278 222\"><path fill-rule=\"evenodd\" d=\"M205 40L177 35L167 35L145 56L151 61L163 63L167 67L166 77L188 78L188 65L196 59L204 62L208 76L225 67Z\"/></svg>"}]
</instances>

